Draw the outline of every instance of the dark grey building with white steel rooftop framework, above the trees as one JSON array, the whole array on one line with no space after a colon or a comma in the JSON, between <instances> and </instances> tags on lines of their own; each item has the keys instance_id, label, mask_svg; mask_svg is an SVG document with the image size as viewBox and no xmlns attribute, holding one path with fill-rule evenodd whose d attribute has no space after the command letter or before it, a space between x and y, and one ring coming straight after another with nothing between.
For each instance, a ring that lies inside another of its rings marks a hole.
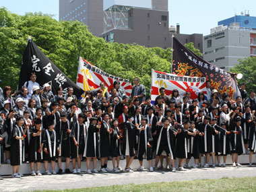
<instances>
[{"instance_id":1,"label":"dark grey building with white steel rooftop framework, above the trees","mask_svg":"<svg viewBox=\"0 0 256 192\"><path fill-rule=\"evenodd\" d=\"M106 42L136 43L166 49L172 46L174 34L183 44L193 42L203 52L202 34L180 34L179 26L169 31L168 0L113 0L108 5L105 1L104 32L100 36Z\"/></svg>"}]
</instances>

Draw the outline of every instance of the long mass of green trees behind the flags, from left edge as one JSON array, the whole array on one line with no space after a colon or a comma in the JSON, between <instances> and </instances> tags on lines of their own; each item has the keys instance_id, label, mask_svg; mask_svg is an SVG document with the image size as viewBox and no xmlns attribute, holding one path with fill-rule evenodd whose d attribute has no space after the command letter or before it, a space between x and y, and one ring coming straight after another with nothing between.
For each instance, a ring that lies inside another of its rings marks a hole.
<instances>
[{"instance_id":1,"label":"long mass of green trees behind the flags, from left edge","mask_svg":"<svg viewBox=\"0 0 256 192\"><path fill-rule=\"evenodd\" d=\"M87 26L80 22L58 22L51 15L42 13L15 15L0 8L2 87L9 85L17 88L28 36L73 82L76 82L79 57L131 82L134 77L139 77L147 93L150 92L151 69L170 72L171 68L171 49L109 43L93 36Z\"/></svg>"}]
</instances>

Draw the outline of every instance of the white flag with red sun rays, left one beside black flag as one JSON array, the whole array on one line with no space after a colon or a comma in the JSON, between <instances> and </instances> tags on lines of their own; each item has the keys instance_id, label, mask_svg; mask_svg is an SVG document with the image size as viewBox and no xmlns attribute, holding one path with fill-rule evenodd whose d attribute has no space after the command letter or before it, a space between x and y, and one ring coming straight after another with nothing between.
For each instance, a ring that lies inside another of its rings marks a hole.
<instances>
[{"instance_id":1,"label":"white flag with red sun rays, left one beside black flag","mask_svg":"<svg viewBox=\"0 0 256 192\"><path fill-rule=\"evenodd\" d=\"M122 79L110 75L98 67L92 65L82 57L79 57L79 65L77 70L77 86L82 88L84 91L95 90L100 87L100 83L104 82L110 92L111 88L114 87L114 82L120 82L120 88L125 91L127 96L131 96L131 82L128 79ZM82 95L84 97L84 95Z\"/></svg>"}]
</instances>

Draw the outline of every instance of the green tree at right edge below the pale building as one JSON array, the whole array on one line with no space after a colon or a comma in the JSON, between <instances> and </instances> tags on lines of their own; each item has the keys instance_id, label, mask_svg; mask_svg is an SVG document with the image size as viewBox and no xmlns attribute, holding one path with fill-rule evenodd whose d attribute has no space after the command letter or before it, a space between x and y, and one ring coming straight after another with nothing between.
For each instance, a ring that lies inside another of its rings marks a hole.
<instances>
[{"instance_id":1,"label":"green tree at right edge below the pale building","mask_svg":"<svg viewBox=\"0 0 256 192\"><path fill-rule=\"evenodd\" d=\"M256 90L256 57L239 59L239 63L230 69L233 73L242 73L243 78L238 79L238 84L245 83L247 91Z\"/></svg>"}]
</instances>

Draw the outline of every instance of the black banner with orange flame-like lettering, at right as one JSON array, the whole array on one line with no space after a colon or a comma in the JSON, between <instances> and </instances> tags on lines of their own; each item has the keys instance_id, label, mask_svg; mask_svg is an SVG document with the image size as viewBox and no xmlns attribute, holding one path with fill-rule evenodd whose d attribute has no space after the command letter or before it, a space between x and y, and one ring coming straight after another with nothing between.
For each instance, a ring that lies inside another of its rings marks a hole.
<instances>
[{"instance_id":1,"label":"black banner with orange flame-like lettering, at right","mask_svg":"<svg viewBox=\"0 0 256 192\"><path fill-rule=\"evenodd\" d=\"M177 38L172 38L172 73L193 77L207 77L220 94L228 93L232 99L241 96L233 73L229 73L198 57Z\"/></svg>"}]
</instances>

